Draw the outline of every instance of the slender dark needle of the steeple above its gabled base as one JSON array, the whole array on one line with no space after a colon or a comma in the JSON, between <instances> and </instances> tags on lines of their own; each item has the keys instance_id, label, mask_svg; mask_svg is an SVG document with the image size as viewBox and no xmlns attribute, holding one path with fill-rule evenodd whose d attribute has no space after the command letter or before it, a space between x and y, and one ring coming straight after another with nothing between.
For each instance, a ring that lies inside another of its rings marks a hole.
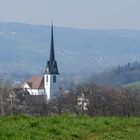
<instances>
[{"instance_id":1,"label":"slender dark needle of the steeple above its gabled base","mask_svg":"<svg viewBox=\"0 0 140 140\"><path fill-rule=\"evenodd\" d=\"M53 23L52 23L52 25L51 25L51 46L50 46L50 63L51 63L51 65L54 60L55 60L55 54L54 54Z\"/></svg>"}]
</instances>

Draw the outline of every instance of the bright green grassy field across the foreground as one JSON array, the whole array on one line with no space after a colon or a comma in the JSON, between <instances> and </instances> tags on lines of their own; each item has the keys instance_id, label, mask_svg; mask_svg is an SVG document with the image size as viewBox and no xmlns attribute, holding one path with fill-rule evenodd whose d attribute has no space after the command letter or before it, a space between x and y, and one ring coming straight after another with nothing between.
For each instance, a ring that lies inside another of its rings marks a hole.
<instances>
[{"instance_id":1,"label":"bright green grassy field across the foreground","mask_svg":"<svg viewBox=\"0 0 140 140\"><path fill-rule=\"evenodd\" d=\"M0 140L139 140L140 118L88 116L0 118Z\"/></svg>"}]
</instances>

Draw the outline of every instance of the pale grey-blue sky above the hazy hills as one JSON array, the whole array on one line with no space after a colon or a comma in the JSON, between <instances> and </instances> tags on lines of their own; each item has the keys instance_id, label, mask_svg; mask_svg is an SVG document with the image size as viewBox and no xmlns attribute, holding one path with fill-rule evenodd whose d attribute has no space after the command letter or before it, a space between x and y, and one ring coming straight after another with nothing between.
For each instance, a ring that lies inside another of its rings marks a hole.
<instances>
[{"instance_id":1,"label":"pale grey-blue sky above the hazy hills","mask_svg":"<svg viewBox=\"0 0 140 140\"><path fill-rule=\"evenodd\" d=\"M140 0L0 0L0 21L140 30Z\"/></svg>"}]
</instances>

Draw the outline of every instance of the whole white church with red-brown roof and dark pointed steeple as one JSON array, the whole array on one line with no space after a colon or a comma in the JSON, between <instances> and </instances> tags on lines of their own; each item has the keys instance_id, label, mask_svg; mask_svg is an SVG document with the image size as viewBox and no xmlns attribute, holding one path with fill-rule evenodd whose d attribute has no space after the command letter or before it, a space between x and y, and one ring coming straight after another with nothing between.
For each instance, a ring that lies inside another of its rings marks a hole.
<instances>
[{"instance_id":1,"label":"whole white church with red-brown roof and dark pointed steeple","mask_svg":"<svg viewBox=\"0 0 140 140\"><path fill-rule=\"evenodd\" d=\"M46 95L47 100L54 98L58 92L58 66L55 60L53 25L51 26L50 57L43 76L33 76L23 83L23 90L30 95Z\"/></svg>"}]
</instances>

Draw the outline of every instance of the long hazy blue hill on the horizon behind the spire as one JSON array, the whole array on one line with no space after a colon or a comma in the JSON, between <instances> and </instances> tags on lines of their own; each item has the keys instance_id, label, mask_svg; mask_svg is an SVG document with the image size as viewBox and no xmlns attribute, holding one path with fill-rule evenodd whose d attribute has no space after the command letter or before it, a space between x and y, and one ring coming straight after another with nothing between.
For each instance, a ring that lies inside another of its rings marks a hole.
<instances>
[{"instance_id":1,"label":"long hazy blue hill on the horizon behind the spire","mask_svg":"<svg viewBox=\"0 0 140 140\"><path fill-rule=\"evenodd\" d=\"M140 31L54 27L60 73L90 75L128 61L140 61ZM50 27L0 22L0 74L44 72Z\"/></svg>"}]
</instances>

